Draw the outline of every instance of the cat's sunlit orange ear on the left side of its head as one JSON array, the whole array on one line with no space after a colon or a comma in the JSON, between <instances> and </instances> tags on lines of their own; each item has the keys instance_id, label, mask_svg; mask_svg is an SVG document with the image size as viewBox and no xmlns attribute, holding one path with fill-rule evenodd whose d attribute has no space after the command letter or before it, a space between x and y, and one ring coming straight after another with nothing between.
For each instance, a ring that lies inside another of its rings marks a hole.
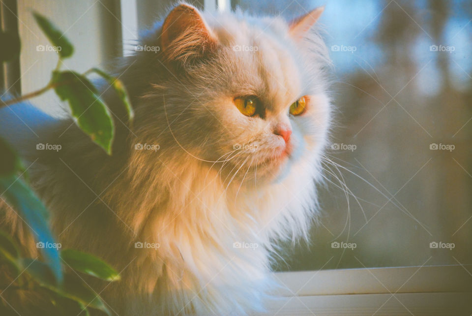
<instances>
[{"instance_id":1,"label":"cat's sunlit orange ear on the left side of its head","mask_svg":"<svg viewBox=\"0 0 472 316\"><path fill-rule=\"evenodd\" d=\"M205 56L217 41L197 8L179 4L162 25L160 44L168 60L185 63Z\"/></svg>"}]
</instances>

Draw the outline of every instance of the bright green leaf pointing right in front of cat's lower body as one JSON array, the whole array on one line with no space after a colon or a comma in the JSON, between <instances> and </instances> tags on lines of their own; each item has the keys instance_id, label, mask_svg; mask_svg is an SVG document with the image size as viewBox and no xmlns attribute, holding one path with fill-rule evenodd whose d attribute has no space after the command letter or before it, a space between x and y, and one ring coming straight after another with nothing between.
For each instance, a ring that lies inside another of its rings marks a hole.
<instances>
[{"instance_id":1,"label":"bright green leaf pointing right in front of cat's lower body","mask_svg":"<svg viewBox=\"0 0 472 316\"><path fill-rule=\"evenodd\" d=\"M73 249L66 249L60 252L60 257L72 269L89 274L106 281L118 281L120 276L115 269L104 261L91 255Z\"/></svg>"}]
</instances>

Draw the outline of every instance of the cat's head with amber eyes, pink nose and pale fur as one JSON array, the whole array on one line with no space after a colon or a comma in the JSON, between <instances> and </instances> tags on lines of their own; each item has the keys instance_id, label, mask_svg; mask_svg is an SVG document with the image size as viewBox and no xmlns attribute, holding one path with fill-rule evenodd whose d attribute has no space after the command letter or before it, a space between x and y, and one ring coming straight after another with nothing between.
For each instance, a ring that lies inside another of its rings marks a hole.
<instances>
[{"instance_id":1,"label":"cat's head with amber eyes, pink nose and pale fur","mask_svg":"<svg viewBox=\"0 0 472 316\"><path fill-rule=\"evenodd\" d=\"M168 85L166 101L179 143L220 170L226 182L273 181L294 164L313 164L325 143L330 112L324 45L318 35L305 33L316 18L301 28L277 19L209 16L208 26L198 12L184 9L186 18L177 13L164 23L162 44L172 58L180 54L187 63L170 79L181 84ZM176 24L183 36L171 32ZM192 25L193 33L181 25ZM295 32L296 27L302 30ZM197 44L185 46L192 41Z\"/></svg>"}]
</instances>

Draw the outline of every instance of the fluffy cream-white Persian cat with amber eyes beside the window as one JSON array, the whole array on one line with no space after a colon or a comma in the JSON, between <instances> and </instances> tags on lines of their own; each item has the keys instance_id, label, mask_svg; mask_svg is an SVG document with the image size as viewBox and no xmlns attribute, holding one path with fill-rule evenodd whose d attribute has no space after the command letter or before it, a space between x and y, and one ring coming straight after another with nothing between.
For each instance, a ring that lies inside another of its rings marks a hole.
<instances>
[{"instance_id":1,"label":"fluffy cream-white Persian cat with amber eyes beside the window","mask_svg":"<svg viewBox=\"0 0 472 316\"><path fill-rule=\"evenodd\" d=\"M31 183L62 248L121 271L120 282L88 280L113 312L264 310L275 241L306 237L316 217L331 110L327 49L314 30L322 11L286 22L177 5L117 71L133 126L106 95L117 126L111 157L71 120L42 120L40 138L28 140L16 116L0 115L3 136L23 137L13 145L38 158ZM36 256L28 227L0 208L1 228Z\"/></svg>"}]
</instances>

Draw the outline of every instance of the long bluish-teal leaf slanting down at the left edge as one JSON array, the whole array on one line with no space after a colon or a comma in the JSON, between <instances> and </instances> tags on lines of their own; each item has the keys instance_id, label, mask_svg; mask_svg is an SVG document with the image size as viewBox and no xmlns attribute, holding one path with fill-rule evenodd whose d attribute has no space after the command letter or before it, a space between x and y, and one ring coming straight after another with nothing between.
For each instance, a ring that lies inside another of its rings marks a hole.
<instances>
[{"instance_id":1,"label":"long bluish-teal leaf slanting down at the left edge","mask_svg":"<svg viewBox=\"0 0 472 316\"><path fill-rule=\"evenodd\" d=\"M13 206L15 211L20 213L21 218L31 228L36 241L44 245L55 244L49 230L48 211L22 179L15 176L0 178L0 191L3 192L6 201ZM57 248L43 247L40 250L54 272L54 276L60 282L62 271Z\"/></svg>"}]
</instances>

